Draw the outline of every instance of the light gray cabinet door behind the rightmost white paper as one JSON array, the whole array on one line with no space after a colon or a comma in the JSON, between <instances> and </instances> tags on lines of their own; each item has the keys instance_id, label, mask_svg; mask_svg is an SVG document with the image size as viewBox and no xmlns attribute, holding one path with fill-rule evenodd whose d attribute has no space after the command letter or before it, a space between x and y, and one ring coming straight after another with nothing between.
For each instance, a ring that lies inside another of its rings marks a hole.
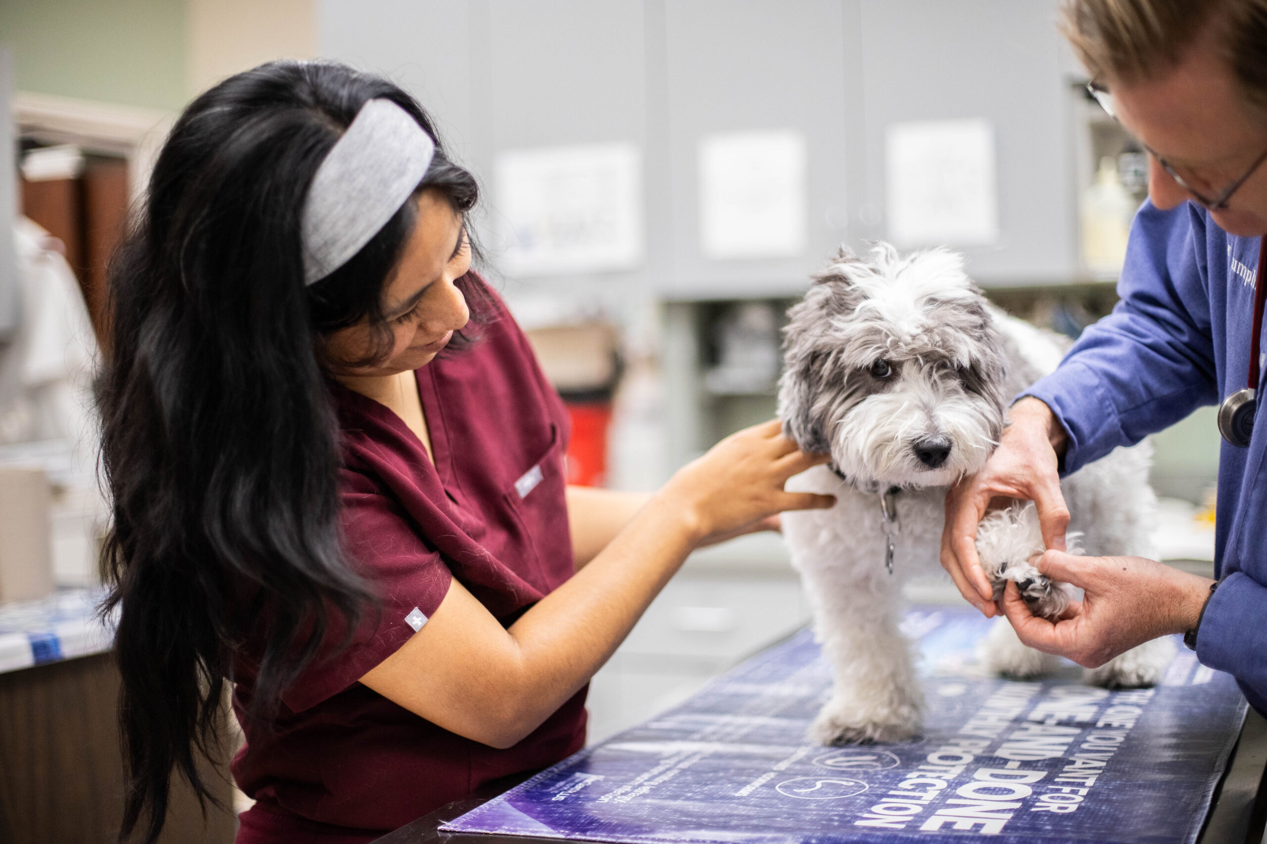
<instances>
[{"instance_id":1,"label":"light gray cabinet door behind the rightmost white paper","mask_svg":"<svg viewBox=\"0 0 1267 844\"><path fill-rule=\"evenodd\" d=\"M995 127L997 244L963 249L983 283L1076 271L1072 130L1054 0L862 0L867 204L884 204L884 133L897 121ZM877 232L882 234L882 230Z\"/></svg>"}]
</instances>

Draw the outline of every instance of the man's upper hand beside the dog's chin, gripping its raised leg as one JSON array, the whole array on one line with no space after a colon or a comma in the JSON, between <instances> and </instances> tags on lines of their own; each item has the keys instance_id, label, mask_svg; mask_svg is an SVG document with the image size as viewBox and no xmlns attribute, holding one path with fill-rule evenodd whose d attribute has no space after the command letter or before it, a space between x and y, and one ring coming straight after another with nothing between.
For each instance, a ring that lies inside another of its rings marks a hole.
<instances>
[{"instance_id":1,"label":"man's upper hand beside the dog's chin, gripping its raised leg","mask_svg":"<svg viewBox=\"0 0 1267 844\"><path fill-rule=\"evenodd\" d=\"M1038 399L1021 399L1009 411L998 448L986 466L946 493L941 566L959 592L987 617L996 612L993 591L977 557L977 524L995 499L1033 501L1048 548L1064 549L1069 509L1060 493L1059 452L1064 429Z\"/></svg>"}]
</instances>

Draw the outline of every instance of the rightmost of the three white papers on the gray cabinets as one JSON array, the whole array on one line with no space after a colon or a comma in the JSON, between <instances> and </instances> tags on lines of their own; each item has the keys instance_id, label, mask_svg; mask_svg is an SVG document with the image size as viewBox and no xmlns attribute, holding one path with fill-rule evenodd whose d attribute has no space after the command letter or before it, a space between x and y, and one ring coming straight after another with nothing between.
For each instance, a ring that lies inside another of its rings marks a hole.
<instances>
[{"instance_id":1,"label":"rightmost of the three white papers on the gray cabinets","mask_svg":"<svg viewBox=\"0 0 1267 844\"><path fill-rule=\"evenodd\" d=\"M884 148L889 240L900 247L998 240L990 121L895 123Z\"/></svg>"}]
</instances>

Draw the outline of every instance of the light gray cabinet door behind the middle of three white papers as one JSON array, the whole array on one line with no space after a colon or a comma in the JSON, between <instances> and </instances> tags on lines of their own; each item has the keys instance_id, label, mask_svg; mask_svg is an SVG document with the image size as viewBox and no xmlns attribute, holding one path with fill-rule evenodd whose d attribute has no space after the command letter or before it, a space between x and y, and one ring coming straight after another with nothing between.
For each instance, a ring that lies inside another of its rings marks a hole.
<instances>
[{"instance_id":1,"label":"light gray cabinet door behind the middle of three white papers","mask_svg":"<svg viewBox=\"0 0 1267 844\"><path fill-rule=\"evenodd\" d=\"M799 291L845 234L846 132L860 115L846 95L843 4L692 0L665 3L664 13L673 270L661 290L672 299ZM805 253L708 259L699 238L699 142L763 129L805 135Z\"/></svg>"}]
</instances>

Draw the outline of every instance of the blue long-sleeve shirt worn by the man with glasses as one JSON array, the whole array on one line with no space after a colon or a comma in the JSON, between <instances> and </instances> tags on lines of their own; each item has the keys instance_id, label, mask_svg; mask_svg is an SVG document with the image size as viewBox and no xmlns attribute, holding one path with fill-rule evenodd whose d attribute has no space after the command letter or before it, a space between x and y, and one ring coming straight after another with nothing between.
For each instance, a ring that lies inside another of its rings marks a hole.
<instances>
[{"instance_id":1,"label":"blue long-sleeve shirt worn by the man with glasses","mask_svg":"<svg viewBox=\"0 0 1267 844\"><path fill-rule=\"evenodd\" d=\"M1068 431L1066 472L1247 386L1258 243L1228 234L1191 202L1169 211L1144 204L1117 283L1121 301L1021 394L1045 401ZM1233 674L1259 712L1267 712L1264 453L1261 410L1249 448L1224 443L1219 454L1221 583L1197 631L1197 658Z\"/></svg>"}]
</instances>

